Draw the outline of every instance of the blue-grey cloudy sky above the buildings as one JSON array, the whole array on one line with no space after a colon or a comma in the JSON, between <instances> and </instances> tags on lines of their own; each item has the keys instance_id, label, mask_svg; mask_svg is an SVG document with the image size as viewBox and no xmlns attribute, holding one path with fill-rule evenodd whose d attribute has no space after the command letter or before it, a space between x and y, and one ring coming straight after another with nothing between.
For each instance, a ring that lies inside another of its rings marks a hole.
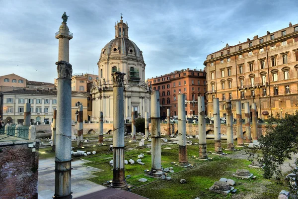
<instances>
[{"instance_id":1,"label":"blue-grey cloudy sky above the buildings","mask_svg":"<svg viewBox=\"0 0 298 199\"><path fill-rule=\"evenodd\" d=\"M298 23L297 0L0 0L0 76L14 73L54 83L64 11L74 33L73 73L98 74L101 49L129 25L143 51L146 78L186 68L203 69L206 56L255 35Z\"/></svg>"}]
</instances>

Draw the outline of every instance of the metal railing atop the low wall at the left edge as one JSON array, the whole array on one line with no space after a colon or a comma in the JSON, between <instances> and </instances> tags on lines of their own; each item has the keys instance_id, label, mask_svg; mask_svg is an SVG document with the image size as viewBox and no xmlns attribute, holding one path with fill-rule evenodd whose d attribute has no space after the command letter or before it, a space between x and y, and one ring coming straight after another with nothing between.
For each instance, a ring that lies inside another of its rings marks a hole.
<instances>
[{"instance_id":1,"label":"metal railing atop the low wall at the left edge","mask_svg":"<svg viewBox=\"0 0 298 199\"><path fill-rule=\"evenodd\" d=\"M5 130L4 126L0 129L0 142L16 141L29 138L29 127L20 126L18 130L15 130L16 125L8 126Z\"/></svg>"}]
</instances>

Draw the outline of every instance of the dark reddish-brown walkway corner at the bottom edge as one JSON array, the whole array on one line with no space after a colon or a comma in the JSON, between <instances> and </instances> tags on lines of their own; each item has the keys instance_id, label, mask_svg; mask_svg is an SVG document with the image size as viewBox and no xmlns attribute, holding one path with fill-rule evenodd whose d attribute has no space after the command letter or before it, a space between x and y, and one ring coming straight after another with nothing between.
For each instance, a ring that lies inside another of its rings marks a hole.
<instances>
[{"instance_id":1,"label":"dark reddish-brown walkway corner at the bottom edge","mask_svg":"<svg viewBox=\"0 0 298 199\"><path fill-rule=\"evenodd\" d=\"M91 194L87 194L85 196L78 197L76 199L147 199L147 198L131 192L107 188L104 190L100 190L98 192L94 192Z\"/></svg>"}]
</instances>

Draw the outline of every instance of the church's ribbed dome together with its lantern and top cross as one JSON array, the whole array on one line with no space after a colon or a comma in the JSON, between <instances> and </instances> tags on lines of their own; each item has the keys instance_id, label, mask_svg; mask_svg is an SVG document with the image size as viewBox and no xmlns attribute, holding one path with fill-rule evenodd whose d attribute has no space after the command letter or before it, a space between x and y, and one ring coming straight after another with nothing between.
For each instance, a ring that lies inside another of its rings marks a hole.
<instances>
[{"instance_id":1,"label":"church's ribbed dome together with its lantern and top cross","mask_svg":"<svg viewBox=\"0 0 298 199\"><path fill-rule=\"evenodd\" d=\"M115 25L115 39L112 39L103 47L100 60L110 56L122 57L123 55L144 62L142 51L128 38L128 25L123 22L121 16L120 22Z\"/></svg>"}]
</instances>

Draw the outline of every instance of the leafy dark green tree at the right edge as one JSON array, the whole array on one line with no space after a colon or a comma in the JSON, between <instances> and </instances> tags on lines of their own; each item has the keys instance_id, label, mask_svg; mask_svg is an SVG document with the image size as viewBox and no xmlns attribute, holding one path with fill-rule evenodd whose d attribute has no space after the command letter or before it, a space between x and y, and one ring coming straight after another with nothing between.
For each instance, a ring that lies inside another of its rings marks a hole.
<instances>
[{"instance_id":1,"label":"leafy dark green tree at the right edge","mask_svg":"<svg viewBox=\"0 0 298 199\"><path fill-rule=\"evenodd\" d=\"M281 118L272 115L268 119L266 135L259 138L260 145L253 152L249 152L249 160L255 157L257 150L261 150L262 157L257 160L264 164L264 178L272 178L276 174L281 177L281 165L286 159L298 153L298 111L295 114L285 114Z\"/></svg>"}]
</instances>

